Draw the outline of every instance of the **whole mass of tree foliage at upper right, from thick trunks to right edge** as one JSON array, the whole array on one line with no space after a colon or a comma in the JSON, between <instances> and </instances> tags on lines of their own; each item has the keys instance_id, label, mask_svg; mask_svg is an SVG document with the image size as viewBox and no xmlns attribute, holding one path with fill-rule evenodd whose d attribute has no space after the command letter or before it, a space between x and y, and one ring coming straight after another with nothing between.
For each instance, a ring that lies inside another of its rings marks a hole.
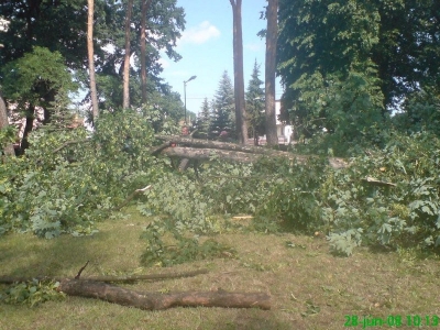
<instances>
[{"instance_id":1,"label":"whole mass of tree foliage at upper right, from thick trunks to right edge","mask_svg":"<svg viewBox=\"0 0 440 330\"><path fill-rule=\"evenodd\" d=\"M428 129L439 95L439 9L438 1L280 1L282 111L297 138L353 155L384 146L392 111L406 114L407 131Z\"/></svg>"}]
</instances>

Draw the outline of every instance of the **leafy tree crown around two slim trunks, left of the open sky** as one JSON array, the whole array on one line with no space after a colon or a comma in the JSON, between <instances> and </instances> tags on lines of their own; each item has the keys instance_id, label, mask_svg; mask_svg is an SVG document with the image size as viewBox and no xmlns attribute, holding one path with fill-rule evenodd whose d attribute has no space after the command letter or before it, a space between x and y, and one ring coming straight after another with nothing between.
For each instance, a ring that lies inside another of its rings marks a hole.
<instances>
[{"instance_id":1,"label":"leafy tree crown around two slim trunks, left of the open sky","mask_svg":"<svg viewBox=\"0 0 440 330\"><path fill-rule=\"evenodd\" d=\"M121 2L120 2L121 3ZM175 51L176 41L180 37L182 30L185 28L185 12L178 7L177 0L157 0L151 1L146 10L146 26L145 26L145 56L141 54L140 42L132 42L131 59L135 65L130 68L130 106L141 107L142 105L142 61L145 58L145 87L148 95L147 102L153 105L157 101L156 97L151 97L152 94L165 94L170 91L160 74L163 68L160 62L161 51L174 59L178 61L180 55ZM110 12L108 20L114 23L108 29L108 43L112 45L112 51L103 50L101 72L99 73L99 92L102 95L103 105L106 108L118 109L123 99L123 64L124 63L124 20L127 13L127 1L120 4L118 10ZM142 33L142 1L133 1L132 9L132 29L131 40L139 40ZM120 68L120 69L118 69Z\"/></svg>"}]
</instances>

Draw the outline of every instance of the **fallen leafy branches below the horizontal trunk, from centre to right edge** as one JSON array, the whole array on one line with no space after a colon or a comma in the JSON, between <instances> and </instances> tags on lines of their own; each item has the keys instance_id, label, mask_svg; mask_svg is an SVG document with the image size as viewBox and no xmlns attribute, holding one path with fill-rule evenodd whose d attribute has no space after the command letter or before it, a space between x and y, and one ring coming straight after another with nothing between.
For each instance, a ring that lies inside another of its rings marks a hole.
<instances>
[{"instance_id":1,"label":"fallen leafy branches below the horizontal trunk, from centre to right edge","mask_svg":"<svg viewBox=\"0 0 440 330\"><path fill-rule=\"evenodd\" d=\"M180 233L213 232L216 215L254 215L254 228L266 232L280 226L306 234L323 231L331 249L346 255L361 244L438 246L440 141L428 133L391 136L383 150L337 170L314 157L306 165L284 158L253 165L212 161L198 176L164 177L142 208L166 215Z\"/></svg>"}]
</instances>

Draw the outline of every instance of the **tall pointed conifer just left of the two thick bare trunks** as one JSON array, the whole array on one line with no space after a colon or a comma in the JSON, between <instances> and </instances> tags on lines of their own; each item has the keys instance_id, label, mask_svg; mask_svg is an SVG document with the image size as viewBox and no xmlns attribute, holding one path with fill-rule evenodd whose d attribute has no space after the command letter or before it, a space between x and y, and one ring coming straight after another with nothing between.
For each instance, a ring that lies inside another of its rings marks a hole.
<instances>
[{"instance_id":1,"label":"tall pointed conifer just left of the two thick bare trunks","mask_svg":"<svg viewBox=\"0 0 440 330\"><path fill-rule=\"evenodd\" d=\"M231 78L226 70L211 105L210 132L212 138L218 138L222 131L228 132L228 135L232 139L237 138L234 105L234 90Z\"/></svg>"}]
</instances>

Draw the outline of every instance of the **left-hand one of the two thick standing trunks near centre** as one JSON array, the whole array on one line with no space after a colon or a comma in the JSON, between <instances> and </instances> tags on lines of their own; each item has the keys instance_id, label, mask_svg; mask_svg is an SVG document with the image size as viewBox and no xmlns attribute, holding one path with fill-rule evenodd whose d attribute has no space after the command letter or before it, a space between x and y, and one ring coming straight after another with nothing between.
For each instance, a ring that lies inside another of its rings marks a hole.
<instances>
[{"instance_id":1,"label":"left-hand one of the two thick standing trunks near centre","mask_svg":"<svg viewBox=\"0 0 440 330\"><path fill-rule=\"evenodd\" d=\"M246 110L244 103L244 74L243 74L243 36L241 24L242 0L230 0L233 14L233 59L234 59L234 96L235 124L240 144L248 142Z\"/></svg>"}]
</instances>

